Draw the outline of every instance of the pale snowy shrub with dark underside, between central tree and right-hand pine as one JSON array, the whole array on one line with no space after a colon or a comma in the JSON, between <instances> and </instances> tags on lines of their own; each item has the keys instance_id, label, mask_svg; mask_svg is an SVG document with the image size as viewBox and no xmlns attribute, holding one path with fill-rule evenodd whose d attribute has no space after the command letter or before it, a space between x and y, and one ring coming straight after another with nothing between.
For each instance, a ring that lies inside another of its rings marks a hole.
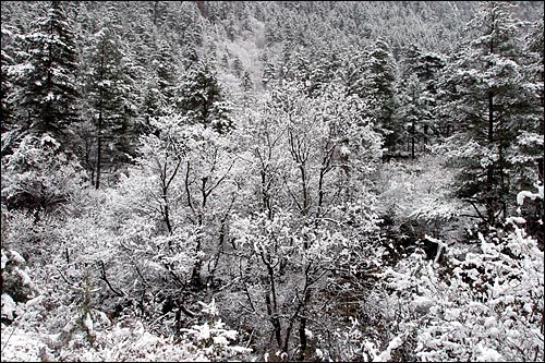
<instances>
[{"instance_id":1,"label":"pale snowy shrub with dark underside, between central tree and right-hand pine","mask_svg":"<svg viewBox=\"0 0 545 363\"><path fill-rule=\"evenodd\" d=\"M396 264L419 244L432 246L426 235L445 241L461 238L459 225L465 221L460 215L465 207L451 195L455 173L444 162L440 155L429 154L382 166L377 184L385 263Z\"/></svg>"}]
</instances>

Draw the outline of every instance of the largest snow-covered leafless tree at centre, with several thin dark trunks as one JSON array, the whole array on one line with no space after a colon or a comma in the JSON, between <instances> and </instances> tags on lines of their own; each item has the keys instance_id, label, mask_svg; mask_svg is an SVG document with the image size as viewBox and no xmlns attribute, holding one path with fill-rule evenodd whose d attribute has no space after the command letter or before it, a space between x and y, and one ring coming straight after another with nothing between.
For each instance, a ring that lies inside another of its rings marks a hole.
<instances>
[{"instance_id":1,"label":"largest snow-covered leafless tree at centre, with several thin dark trunks","mask_svg":"<svg viewBox=\"0 0 545 363\"><path fill-rule=\"evenodd\" d=\"M312 98L304 84L286 83L262 107L249 114L244 142L253 170L246 187L258 213L232 222L233 249L245 308L266 313L271 349L305 360L315 354L311 316L324 314L314 307L328 271L362 274L374 264L360 257L378 221L365 176L382 138L362 118L363 101L334 85Z\"/></svg>"}]
</instances>

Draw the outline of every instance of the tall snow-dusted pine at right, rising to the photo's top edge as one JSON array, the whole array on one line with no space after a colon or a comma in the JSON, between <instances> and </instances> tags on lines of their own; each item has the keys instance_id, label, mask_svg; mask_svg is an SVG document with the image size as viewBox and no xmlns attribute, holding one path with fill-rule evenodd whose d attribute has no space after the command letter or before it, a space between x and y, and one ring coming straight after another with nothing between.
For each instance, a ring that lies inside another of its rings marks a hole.
<instances>
[{"instance_id":1,"label":"tall snow-dusted pine at right, rising to the photo's top edge","mask_svg":"<svg viewBox=\"0 0 545 363\"><path fill-rule=\"evenodd\" d=\"M494 225L507 213L511 165L506 158L517 130L526 119L521 23L507 2L483 2L470 22L468 40L449 66L451 100L447 107L459 134L462 171L458 195Z\"/></svg>"}]
</instances>

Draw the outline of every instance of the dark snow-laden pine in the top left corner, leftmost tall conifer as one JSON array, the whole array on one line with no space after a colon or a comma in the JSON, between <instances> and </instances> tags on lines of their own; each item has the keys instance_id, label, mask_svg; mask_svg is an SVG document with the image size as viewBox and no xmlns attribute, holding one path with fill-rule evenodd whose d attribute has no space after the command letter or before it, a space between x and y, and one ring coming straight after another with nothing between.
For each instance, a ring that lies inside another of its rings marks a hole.
<instances>
[{"instance_id":1,"label":"dark snow-laden pine in the top left corner, leftmost tall conifer","mask_svg":"<svg viewBox=\"0 0 545 363\"><path fill-rule=\"evenodd\" d=\"M27 57L16 73L22 87L17 108L26 114L25 129L70 143L69 128L78 121L78 58L75 36L60 1L52 1L47 14L33 24L25 36Z\"/></svg>"}]
</instances>

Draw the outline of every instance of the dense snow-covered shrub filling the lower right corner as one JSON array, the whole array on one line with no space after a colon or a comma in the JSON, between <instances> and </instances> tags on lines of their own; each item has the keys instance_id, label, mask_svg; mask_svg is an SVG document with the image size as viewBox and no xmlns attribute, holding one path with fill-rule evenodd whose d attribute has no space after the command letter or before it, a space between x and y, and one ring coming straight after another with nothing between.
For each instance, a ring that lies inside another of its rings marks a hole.
<instances>
[{"instance_id":1,"label":"dense snow-covered shrub filling the lower right corner","mask_svg":"<svg viewBox=\"0 0 545 363\"><path fill-rule=\"evenodd\" d=\"M451 247L441 265L415 253L385 273L409 359L544 359L544 255L516 221L477 232L476 250Z\"/></svg>"}]
</instances>

